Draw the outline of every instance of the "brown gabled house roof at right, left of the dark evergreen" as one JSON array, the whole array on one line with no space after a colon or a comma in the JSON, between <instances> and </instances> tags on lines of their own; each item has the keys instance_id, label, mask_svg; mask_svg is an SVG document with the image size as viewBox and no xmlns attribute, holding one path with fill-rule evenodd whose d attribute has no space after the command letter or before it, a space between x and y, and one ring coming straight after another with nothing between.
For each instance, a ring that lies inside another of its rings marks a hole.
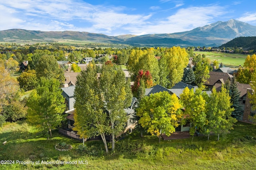
<instances>
[{"instance_id":1,"label":"brown gabled house roof at right, left of the dark evergreen","mask_svg":"<svg viewBox=\"0 0 256 170\"><path fill-rule=\"evenodd\" d=\"M228 74L226 72L216 72L216 71L210 71L210 77L205 82L205 85L214 86L217 82L222 82L225 84L225 82L229 79L232 79L234 76L231 74Z\"/></svg>"}]
</instances>

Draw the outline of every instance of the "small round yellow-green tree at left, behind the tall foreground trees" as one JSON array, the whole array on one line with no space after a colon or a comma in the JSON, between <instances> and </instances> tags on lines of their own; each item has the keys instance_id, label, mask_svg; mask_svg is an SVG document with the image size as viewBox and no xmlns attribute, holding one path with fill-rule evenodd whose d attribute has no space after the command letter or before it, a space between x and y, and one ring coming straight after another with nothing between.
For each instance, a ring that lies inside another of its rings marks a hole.
<instances>
[{"instance_id":1,"label":"small round yellow-green tree at left, behind the tall foreground trees","mask_svg":"<svg viewBox=\"0 0 256 170\"><path fill-rule=\"evenodd\" d=\"M20 88L25 91L32 90L37 86L37 76L36 70L28 70L27 72L22 72L17 78Z\"/></svg>"}]
</instances>

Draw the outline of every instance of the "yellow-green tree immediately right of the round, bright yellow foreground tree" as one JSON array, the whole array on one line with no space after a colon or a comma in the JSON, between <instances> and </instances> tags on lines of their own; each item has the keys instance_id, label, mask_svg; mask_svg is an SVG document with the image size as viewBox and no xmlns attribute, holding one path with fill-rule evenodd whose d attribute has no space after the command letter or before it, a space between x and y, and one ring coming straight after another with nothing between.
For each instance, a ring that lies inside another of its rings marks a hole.
<instances>
[{"instance_id":1,"label":"yellow-green tree immediately right of the round, bright yellow foreground tree","mask_svg":"<svg viewBox=\"0 0 256 170\"><path fill-rule=\"evenodd\" d=\"M190 135L194 135L195 130L202 131L204 126L207 124L206 121L206 108L204 97L202 91L197 89L194 92L194 89L186 87L182 94L180 94L180 102L184 107L184 115L187 116L187 119L191 123Z\"/></svg>"}]
</instances>

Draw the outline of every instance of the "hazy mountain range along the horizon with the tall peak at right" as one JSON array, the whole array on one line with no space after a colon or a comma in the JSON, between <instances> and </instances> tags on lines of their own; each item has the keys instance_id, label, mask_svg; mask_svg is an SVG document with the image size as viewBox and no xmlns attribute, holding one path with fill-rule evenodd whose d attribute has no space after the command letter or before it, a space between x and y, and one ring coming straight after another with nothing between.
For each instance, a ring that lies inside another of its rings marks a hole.
<instances>
[{"instance_id":1,"label":"hazy mountain range along the horizon with the tall peak at right","mask_svg":"<svg viewBox=\"0 0 256 170\"><path fill-rule=\"evenodd\" d=\"M238 20L217 21L210 25L197 27L190 31L148 35L108 36L98 33L78 31L31 31L8 29L0 31L0 41L58 41L76 40L94 43L118 43L134 46L206 46L217 47L236 37L256 36L256 26Z\"/></svg>"}]
</instances>

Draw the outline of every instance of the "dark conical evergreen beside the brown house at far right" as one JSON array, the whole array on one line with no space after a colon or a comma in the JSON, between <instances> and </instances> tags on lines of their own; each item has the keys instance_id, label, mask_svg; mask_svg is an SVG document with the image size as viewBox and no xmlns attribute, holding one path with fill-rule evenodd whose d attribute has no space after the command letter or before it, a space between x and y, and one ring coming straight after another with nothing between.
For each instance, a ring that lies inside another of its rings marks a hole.
<instances>
[{"instance_id":1,"label":"dark conical evergreen beside the brown house at far right","mask_svg":"<svg viewBox=\"0 0 256 170\"><path fill-rule=\"evenodd\" d=\"M234 111L232 111L231 116L239 119L242 115L242 109L239 105L239 98L240 98L240 92L237 88L238 82L236 81L236 78L233 78L230 82L229 87L229 96L231 97L230 102L232 103L231 108L234 108Z\"/></svg>"}]
</instances>

